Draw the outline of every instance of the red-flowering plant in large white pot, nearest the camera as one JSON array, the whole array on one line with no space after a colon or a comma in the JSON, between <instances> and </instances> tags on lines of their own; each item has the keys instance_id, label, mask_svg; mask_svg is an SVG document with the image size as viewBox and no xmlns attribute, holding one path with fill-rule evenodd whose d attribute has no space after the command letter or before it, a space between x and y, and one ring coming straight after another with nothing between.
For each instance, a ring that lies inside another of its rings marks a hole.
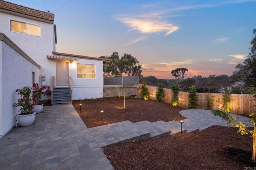
<instances>
[{"instance_id":1,"label":"red-flowering plant in large white pot, nearest the camera","mask_svg":"<svg viewBox=\"0 0 256 170\"><path fill-rule=\"evenodd\" d=\"M30 126L34 123L36 117L36 113L32 112L35 104L32 102L31 87L26 86L23 89L17 89L16 92L20 95L18 103L14 103L14 106L20 107L20 114L16 115L16 121L22 127Z\"/></svg>"}]
</instances>

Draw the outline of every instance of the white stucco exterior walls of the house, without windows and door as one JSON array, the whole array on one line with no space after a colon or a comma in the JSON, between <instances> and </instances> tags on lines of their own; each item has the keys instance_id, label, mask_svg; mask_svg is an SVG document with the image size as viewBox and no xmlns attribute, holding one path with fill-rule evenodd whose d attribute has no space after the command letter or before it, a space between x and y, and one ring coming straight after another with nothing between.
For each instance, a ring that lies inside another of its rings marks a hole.
<instances>
[{"instance_id":1,"label":"white stucco exterior walls of the house, without windows and door","mask_svg":"<svg viewBox=\"0 0 256 170\"><path fill-rule=\"evenodd\" d=\"M40 26L41 36L10 31L10 20ZM0 39L0 137L15 125L15 116L19 110L13 106L19 98L16 89L22 89L25 86L32 87L32 72L34 72L35 83L40 85L41 75L47 76L46 85L49 86L52 86L51 78L54 76L54 87L56 87L57 61L69 63L68 76L72 77L73 84L72 99L103 97L103 62L109 62L108 59L74 55L77 61L73 61L73 66L70 66L69 60L47 58L47 55L53 55L55 52L54 22L36 18L36 16L1 10L0 36L2 33L3 37L8 39L8 43ZM96 65L96 79L77 78L76 63ZM49 96L44 99L47 98Z\"/></svg>"}]
</instances>

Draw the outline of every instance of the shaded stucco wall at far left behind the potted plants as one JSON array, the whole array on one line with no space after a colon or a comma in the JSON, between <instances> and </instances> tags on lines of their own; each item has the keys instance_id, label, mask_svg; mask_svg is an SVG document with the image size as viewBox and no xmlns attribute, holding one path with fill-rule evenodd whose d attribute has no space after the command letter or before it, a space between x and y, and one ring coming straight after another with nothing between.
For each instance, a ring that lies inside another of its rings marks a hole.
<instances>
[{"instance_id":1,"label":"shaded stucco wall at far left behind the potted plants","mask_svg":"<svg viewBox=\"0 0 256 170\"><path fill-rule=\"evenodd\" d=\"M2 63L0 75L0 136L4 135L15 125L15 116L18 107L14 107L19 96L16 89L25 86L32 87L32 72L39 77L40 69L30 63L22 55L14 51L9 45L0 41L0 62ZM38 83L38 80L35 80Z\"/></svg>"}]
</instances>

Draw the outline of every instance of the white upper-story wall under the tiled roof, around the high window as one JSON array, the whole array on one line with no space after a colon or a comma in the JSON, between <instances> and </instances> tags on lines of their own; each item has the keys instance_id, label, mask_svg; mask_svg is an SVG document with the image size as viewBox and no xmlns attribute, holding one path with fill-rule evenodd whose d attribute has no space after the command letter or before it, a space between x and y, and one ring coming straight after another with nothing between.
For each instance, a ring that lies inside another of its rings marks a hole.
<instances>
[{"instance_id":1,"label":"white upper-story wall under the tiled roof, around the high window","mask_svg":"<svg viewBox=\"0 0 256 170\"><path fill-rule=\"evenodd\" d=\"M54 24L24 18L12 14L0 12L0 32L4 33L12 42L30 56L41 66L41 74L51 74L56 76L56 62L49 61L47 55L52 55L55 50L54 44ZM10 19L20 22L27 22L41 26L41 37L22 34L10 31ZM36 80L39 80L39 76Z\"/></svg>"}]
</instances>

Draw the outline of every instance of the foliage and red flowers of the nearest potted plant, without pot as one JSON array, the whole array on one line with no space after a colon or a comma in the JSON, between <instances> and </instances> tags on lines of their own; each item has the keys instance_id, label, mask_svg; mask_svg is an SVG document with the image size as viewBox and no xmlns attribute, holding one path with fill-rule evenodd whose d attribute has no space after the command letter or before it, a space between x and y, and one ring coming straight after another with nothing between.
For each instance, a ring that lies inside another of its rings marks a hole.
<instances>
[{"instance_id":1,"label":"foliage and red flowers of the nearest potted plant, without pot","mask_svg":"<svg viewBox=\"0 0 256 170\"><path fill-rule=\"evenodd\" d=\"M18 99L18 103L14 103L13 105L18 107L20 106L20 115L29 115L31 114L31 110L34 109L33 106L35 105L32 102L31 97L31 87L23 87L23 89L17 89L18 95L20 95L20 99Z\"/></svg>"}]
</instances>

